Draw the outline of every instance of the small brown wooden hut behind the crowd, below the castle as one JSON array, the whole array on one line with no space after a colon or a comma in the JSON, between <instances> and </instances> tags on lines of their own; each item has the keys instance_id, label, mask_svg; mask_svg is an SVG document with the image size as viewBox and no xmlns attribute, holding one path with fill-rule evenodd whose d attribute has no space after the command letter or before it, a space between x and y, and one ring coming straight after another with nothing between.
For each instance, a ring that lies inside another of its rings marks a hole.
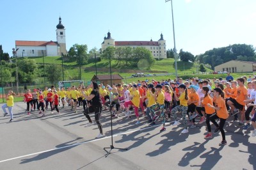
<instances>
[{"instance_id":1,"label":"small brown wooden hut behind the crowd, below the castle","mask_svg":"<svg viewBox=\"0 0 256 170\"><path fill-rule=\"evenodd\" d=\"M113 83L115 83L115 84L121 83L122 79L124 79L124 78L121 75L119 75L119 74L112 74L112 84ZM97 75L97 76L93 75L92 81L95 81L97 83L102 83L105 86L107 84L110 85L111 84L110 74L108 74L108 75Z\"/></svg>"}]
</instances>

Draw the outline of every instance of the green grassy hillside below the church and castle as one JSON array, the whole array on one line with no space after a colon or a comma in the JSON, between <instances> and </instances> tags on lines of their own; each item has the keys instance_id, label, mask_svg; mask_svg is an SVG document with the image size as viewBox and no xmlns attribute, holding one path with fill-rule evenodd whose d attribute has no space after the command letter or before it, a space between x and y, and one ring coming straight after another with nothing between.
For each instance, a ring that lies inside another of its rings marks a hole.
<instances>
[{"instance_id":1,"label":"green grassy hillside below the church and castle","mask_svg":"<svg viewBox=\"0 0 256 170\"><path fill-rule=\"evenodd\" d=\"M43 58L37 57L33 58L36 60L36 63L42 65L43 64ZM51 57L46 56L44 57L44 62L46 64L50 63L56 63L58 65L61 65L61 57ZM109 61L106 59L102 59L100 62L97 62L97 73L103 74L103 73L109 73ZM112 60L111 66L112 66L112 72L113 73L120 73L122 77L126 77L127 79L131 78L131 75L133 73L137 72L143 72L143 73L150 73L150 74L158 74L163 75L173 75L175 76L175 60L174 59L162 59L160 61L156 61L156 63L150 68L150 70L143 70L138 68L117 68L116 66L116 60ZM70 62L70 61L63 61L63 67L66 72L69 73L69 75L78 75L79 68L77 63ZM178 61L177 62L178 67L178 74L179 75L193 75L196 73L196 64L195 63L189 63L189 62L183 62ZM88 63L87 65L82 66L82 79L84 81L89 81L92 79L93 75L95 74L95 63ZM212 70L207 68L207 72L212 72Z\"/></svg>"}]
</instances>

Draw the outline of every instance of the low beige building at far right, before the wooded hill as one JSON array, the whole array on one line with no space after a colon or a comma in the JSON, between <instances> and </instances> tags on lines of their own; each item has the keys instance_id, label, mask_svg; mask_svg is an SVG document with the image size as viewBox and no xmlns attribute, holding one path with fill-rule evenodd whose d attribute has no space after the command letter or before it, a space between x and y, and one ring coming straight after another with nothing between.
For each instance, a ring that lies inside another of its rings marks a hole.
<instances>
[{"instance_id":1,"label":"low beige building at far right, before the wooded hill","mask_svg":"<svg viewBox=\"0 0 256 170\"><path fill-rule=\"evenodd\" d=\"M256 62L231 60L218 66L214 66L214 72L244 73L255 72Z\"/></svg>"}]
</instances>

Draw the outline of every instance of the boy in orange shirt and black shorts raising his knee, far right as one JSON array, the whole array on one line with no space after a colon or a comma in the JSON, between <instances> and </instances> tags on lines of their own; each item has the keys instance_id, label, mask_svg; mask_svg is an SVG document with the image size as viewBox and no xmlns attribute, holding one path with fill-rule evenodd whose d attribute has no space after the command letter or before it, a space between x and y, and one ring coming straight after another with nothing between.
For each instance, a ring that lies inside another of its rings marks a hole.
<instances>
[{"instance_id":1,"label":"boy in orange shirt and black shorts raising his knee, far right","mask_svg":"<svg viewBox=\"0 0 256 170\"><path fill-rule=\"evenodd\" d=\"M238 124L238 127L243 127L244 123L244 100L247 100L247 89L244 86L244 78L241 77L237 79L237 97L236 98L230 98L228 100L227 104L231 107L231 110L234 111L234 121L238 120L237 113L240 112L241 114L241 121ZM238 110L237 110L238 109Z\"/></svg>"}]
</instances>

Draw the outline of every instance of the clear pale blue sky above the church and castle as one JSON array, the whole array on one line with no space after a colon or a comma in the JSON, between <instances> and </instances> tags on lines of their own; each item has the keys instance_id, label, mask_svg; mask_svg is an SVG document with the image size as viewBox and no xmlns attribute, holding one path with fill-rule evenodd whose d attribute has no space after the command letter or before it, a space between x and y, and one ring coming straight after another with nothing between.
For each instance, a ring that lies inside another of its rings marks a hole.
<instances>
[{"instance_id":1,"label":"clear pale blue sky above the church and castle","mask_svg":"<svg viewBox=\"0 0 256 170\"><path fill-rule=\"evenodd\" d=\"M176 49L194 55L234 43L256 46L255 0L172 0ZM116 41L157 41L173 49L172 6L165 0L1 0L0 45L12 56L15 40L56 41L61 16L67 50L100 49Z\"/></svg>"}]
</instances>

